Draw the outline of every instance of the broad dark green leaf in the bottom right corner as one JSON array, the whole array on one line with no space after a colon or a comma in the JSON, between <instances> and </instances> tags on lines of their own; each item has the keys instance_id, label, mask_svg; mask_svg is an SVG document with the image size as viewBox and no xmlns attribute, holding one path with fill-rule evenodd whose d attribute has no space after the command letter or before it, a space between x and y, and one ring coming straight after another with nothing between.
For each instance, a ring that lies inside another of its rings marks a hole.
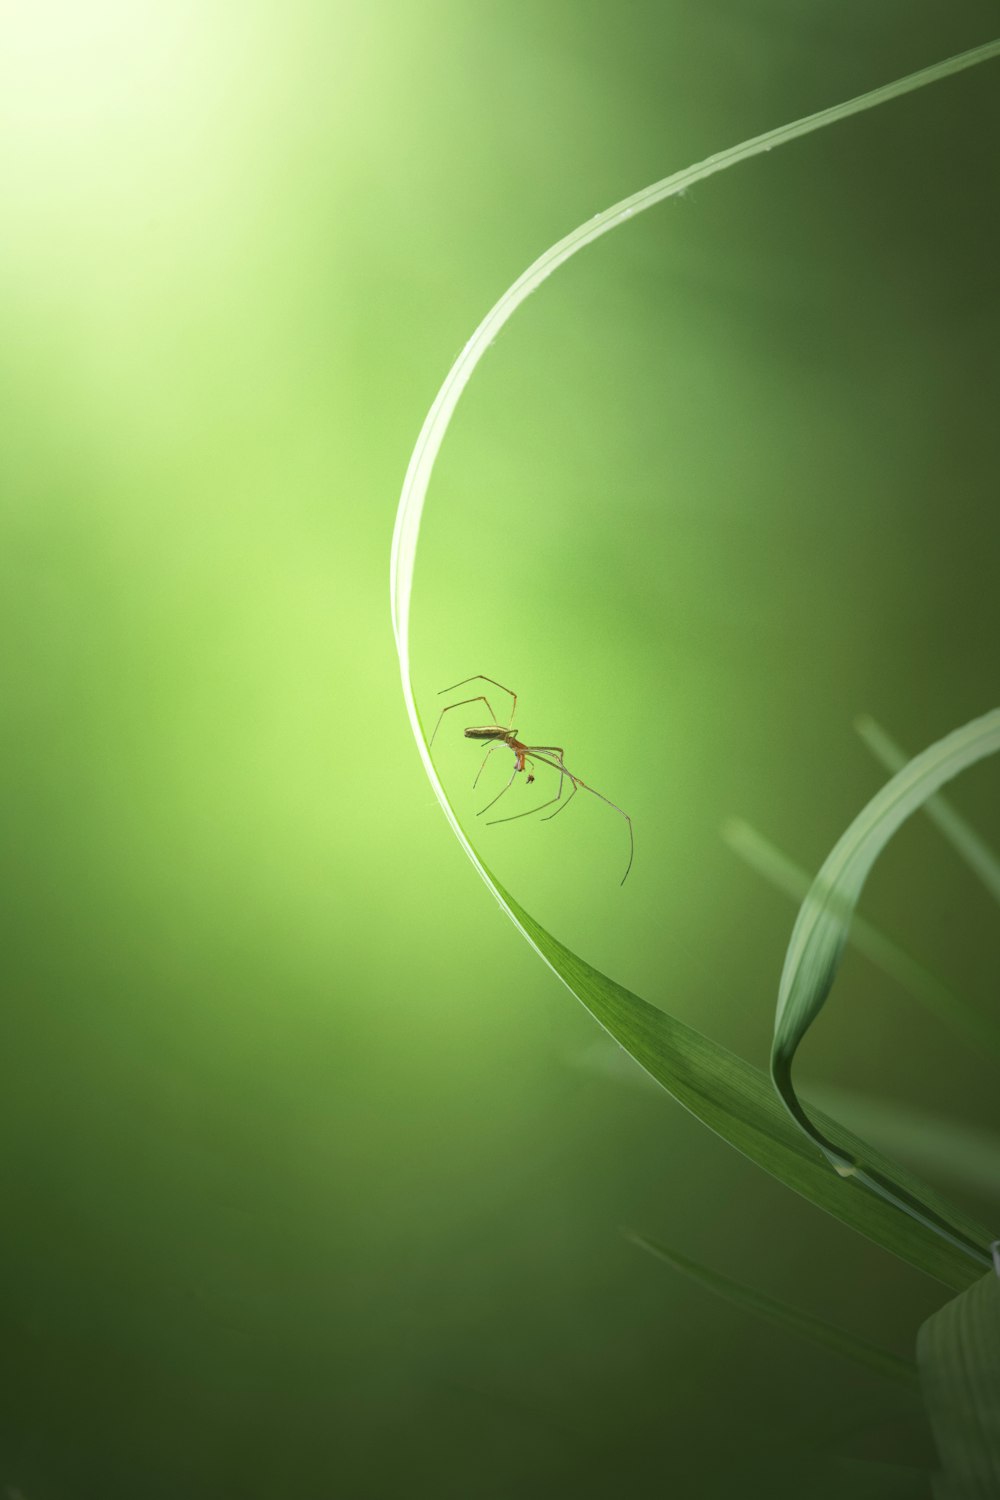
<instances>
[{"instance_id":1,"label":"broad dark green leaf in the bottom right corner","mask_svg":"<svg viewBox=\"0 0 1000 1500\"><path fill-rule=\"evenodd\" d=\"M943 1464L939 1500L1000 1496L1000 1276L936 1312L916 1342L924 1401Z\"/></svg>"}]
</instances>

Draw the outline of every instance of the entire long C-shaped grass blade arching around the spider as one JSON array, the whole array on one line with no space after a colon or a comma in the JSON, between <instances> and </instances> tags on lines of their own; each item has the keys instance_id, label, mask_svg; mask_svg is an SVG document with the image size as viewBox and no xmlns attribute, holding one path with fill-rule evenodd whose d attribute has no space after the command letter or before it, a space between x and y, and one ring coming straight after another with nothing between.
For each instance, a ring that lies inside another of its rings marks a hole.
<instances>
[{"instance_id":1,"label":"entire long C-shaped grass blade arching around the spider","mask_svg":"<svg viewBox=\"0 0 1000 1500\"><path fill-rule=\"evenodd\" d=\"M552 249L546 250L519 276L496 306L487 312L445 376L444 386L424 418L406 468L396 513L390 562L393 633L399 656L402 690L424 771L468 858L525 938L546 957L546 962L579 994L612 1035L616 1035L654 1077L658 1077L664 1083L670 1080L667 1086L672 1092L682 1102L687 1102L688 1107L694 1108L702 1119L706 1119L714 1130L718 1130L724 1138L732 1140L733 1144L745 1150L753 1160L759 1160L762 1166L766 1166L783 1182L804 1192L813 1202L820 1203L829 1212L837 1214L844 1222L853 1224L861 1233L870 1234L880 1245L894 1250L904 1260L921 1266L930 1275L936 1275L946 1284L958 1287L967 1284L970 1274L967 1254L963 1246L936 1239L927 1233L924 1226L909 1222L891 1209L891 1206L858 1191L855 1182L846 1182L828 1172L822 1156L804 1138L801 1131L792 1126L787 1114L771 1092L765 1074L756 1068L750 1068L741 1059L726 1053L724 1048L709 1042L708 1038L700 1036L690 1028L682 1028L681 1023L672 1022L664 1012L646 1005L645 1000L615 986L613 981L604 980L597 970L589 969L574 954L556 944L543 928L532 924L531 918L492 879L466 838L430 759L427 738L423 732L414 698L409 666L409 606L417 538L420 536L420 519L427 486L462 392L507 321L559 266L565 264L585 246L609 234L618 225L625 224L654 204L684 192L694 183L705 182L717 172L771 152L813 130L820 130L828 124L835 124L838 120L846 120L849 116L888 104L906 93L934 84L966 68L975 68L999 56L1000 39L973 48L958 57L951 57L943 63L936 63L933 68L922 69L918 74L910 74L907 78L897 80L858 99L849 99L844 104L822 110L792 124L757 135L750 141L720 152L705 162L664 177L661 182L624 198L604 213L595 214L594 219L580 225L553 244ZM546 954L546 948L550 957ZM718 1098L714 1098L717 1092ZM976 1239L984 1239L978 1226L969 1227L969 1234L973 1244Z\"/></svg>"}]
</instances>

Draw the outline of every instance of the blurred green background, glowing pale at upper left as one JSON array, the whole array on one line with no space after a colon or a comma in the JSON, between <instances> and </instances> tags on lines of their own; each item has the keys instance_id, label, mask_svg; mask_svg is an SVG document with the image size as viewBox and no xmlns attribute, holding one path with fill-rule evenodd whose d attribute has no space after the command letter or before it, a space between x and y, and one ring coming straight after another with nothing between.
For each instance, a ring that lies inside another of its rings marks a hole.
<instances>
[{"instance_id":1,"label":"blurred green background, glowing pale at upper left","mask_svg":"<svg viewBox=\"0 0 1000 1500\"><path fill-rule=\"evenodd\" d=\"M801 1443L789 1492L858 1494L808 1454L930 1461L874 1377L622 1236L901 1352L946 1294L634 1086L501 918L409 736L387 566L424 411L537 254L996 8L1 15L0 1492L778 1494ZM510 682L636 824L624 890L595 801L483 856L757 1062L793 910L720 825L816 868L882 780L858 712L918 750L996 704L999 82L588 250L430 490L424 718ZM472 824L462 723L435 748ZM955 801L1000 837L996 766ZM996 1004L930 826L864 909ZM985 1060L855 956L801 1076L996 1126Z\"/></svg>"}]
</instances>

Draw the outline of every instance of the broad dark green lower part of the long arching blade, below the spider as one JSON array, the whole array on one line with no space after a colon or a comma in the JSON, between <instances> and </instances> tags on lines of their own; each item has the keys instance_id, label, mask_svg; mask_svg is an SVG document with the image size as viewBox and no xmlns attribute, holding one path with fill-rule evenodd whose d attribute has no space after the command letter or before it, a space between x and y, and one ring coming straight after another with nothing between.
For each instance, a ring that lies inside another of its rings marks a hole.
<instances>
[{"instance_id":1,"label":"broad dark green lower part of the long arching blade, below the spider","mask_svg":"<svg viewBox=\"0 0 1000 1500\"><path fill-rule=\"evenodd\" d=\"M549 968L615 1041L709 1130L817 1208L946 1286L967 1287L979 1275L990 1258L993 1236L987 1228L916 1178L897 1172L897 1180L906 1184L928 1212L951 1226L952 1239L942 1239L856 1178L831 1172L819 1148L792 1120L762 1068L591 968L529 916L489 872L486 878ZM826 1116L817 1118L841 1152L864 1154L874 1170L895 1170L856 1136Z\"/></svg>"}]
</instances>

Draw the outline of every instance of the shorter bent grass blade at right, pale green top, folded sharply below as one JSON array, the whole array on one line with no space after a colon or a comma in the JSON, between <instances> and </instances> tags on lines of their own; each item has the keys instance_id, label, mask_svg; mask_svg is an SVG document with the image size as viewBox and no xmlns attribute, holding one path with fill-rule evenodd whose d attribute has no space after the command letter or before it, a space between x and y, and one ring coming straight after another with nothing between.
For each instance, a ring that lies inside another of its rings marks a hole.
<instances>
[{"instance_id":1,"label":"shorter bent grass blade at right, pale green top, folded sharply below","mask_svg":"<svg viewBox=\"0 0 1000 1500\"><path fill-rule=\"evenodd\" d=\"M837 842L799 910L784 960L778 988L771 1076L789 1113L801 1130L826 1152L838 1173L853 1176L873 1192L895 1203L904 1214L945 1238L955 1239L955 1227L939 1218L925 1194L913 1194L900 1174L876 1168L867 1154L859 1158L844 1150L810 1119L792 1083L792 1062L799 1042L823 1008L831 992L847 938L850 914L861 896L868 872L900 825L924 806L928 796L966 766L1000 750L1000 710L993 710L930 746L897 771L858 814ZM973 1258L982 1246L964 1236Z\"/></svg>"}]
</instances>

